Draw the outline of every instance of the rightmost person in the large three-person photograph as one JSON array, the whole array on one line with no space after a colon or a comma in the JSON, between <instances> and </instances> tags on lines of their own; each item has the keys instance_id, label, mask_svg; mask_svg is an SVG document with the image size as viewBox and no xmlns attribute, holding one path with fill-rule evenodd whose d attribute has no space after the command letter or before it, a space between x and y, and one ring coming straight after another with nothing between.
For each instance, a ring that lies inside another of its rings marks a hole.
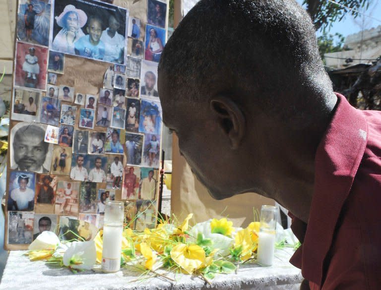
<instances>
[{"instance_id":1,"label":"rightmost person in the large three-person photograph","mask_svg":"<svg viewBox=\"0 0 381 290\"><path fill-rule=\"evenodd\" d=\"M102 31L101 40L105 44L103 60L122 63L124 60L125 37L118 33L121 23L117 16L110 15L109 27Z\"/></svg>"}]
</instances>

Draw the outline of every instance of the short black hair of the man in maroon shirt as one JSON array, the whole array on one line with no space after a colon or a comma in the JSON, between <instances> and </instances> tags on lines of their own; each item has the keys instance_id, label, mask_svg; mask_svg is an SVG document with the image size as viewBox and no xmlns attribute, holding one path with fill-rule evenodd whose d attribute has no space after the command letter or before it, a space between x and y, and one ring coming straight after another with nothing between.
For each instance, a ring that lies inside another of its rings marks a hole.
<instances>
[{"instance_id":1,"label":"short black hair of the man in maroon shirt","mask_svg":"<svg viewBox=\"0 0 381 290\"><path fill-rule=\"evenodd\" d=\"M333 92L315 27L295 0L199 1L168 40L158 71L166 76L166 102L182 95L194 103L221 87L282 116Z\"/></svg>"}]
</instances>

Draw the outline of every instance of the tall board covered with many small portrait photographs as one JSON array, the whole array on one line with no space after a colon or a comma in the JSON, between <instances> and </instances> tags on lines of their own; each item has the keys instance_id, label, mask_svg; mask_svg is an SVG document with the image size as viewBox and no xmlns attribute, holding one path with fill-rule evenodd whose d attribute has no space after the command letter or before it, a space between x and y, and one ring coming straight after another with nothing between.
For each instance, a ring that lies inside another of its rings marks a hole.
<instances>
[{"instance_id":1,"label":"tall board covered with many small portrait photographs","mask_svg":"<svg viewBox=\"0 0 381 290\"><path fill-rule=\"evenodd\" d=\"M142 16L115 2L19 1L7 245L44 231L90 240L109 200L125 202L132 230L155 226L167 3L146 0ZM97 92L77 85L72 63L103 67L91 78Z\"/></svg>"}]
</instances>

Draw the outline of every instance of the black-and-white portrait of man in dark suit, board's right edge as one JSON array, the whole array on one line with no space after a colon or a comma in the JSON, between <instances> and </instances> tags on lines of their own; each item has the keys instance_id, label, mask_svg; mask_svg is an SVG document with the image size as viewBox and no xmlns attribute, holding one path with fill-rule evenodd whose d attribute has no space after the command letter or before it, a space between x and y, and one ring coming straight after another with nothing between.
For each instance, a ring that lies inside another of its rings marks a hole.
<instances>
[{"instance_id":1,"label":"black-and-white portrait of man in dark suit, board's right edge","mask_svg":"<svg viewBox=\"0 0 381 290\"><path fill-rule=\"evenodd\" d=\"M157 92L157 63L147 60L141 61L140 96L159 99Z\"/></svg>"}]
</instances>

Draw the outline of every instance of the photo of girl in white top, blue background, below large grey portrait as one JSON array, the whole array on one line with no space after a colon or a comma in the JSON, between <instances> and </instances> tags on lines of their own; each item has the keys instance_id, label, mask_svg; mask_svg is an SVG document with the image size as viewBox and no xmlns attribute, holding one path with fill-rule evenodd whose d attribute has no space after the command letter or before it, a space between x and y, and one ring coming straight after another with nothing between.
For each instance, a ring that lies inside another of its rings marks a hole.
<instances>
[{"instance_id":1,"label":"photo of girl in white top, blue background, below large grey portrait","mask_svg":"<svg viewBox=\"0 0 381 290\"><path fill-rule=\"evenodd\" d=\"M35 174L11 171L8 194L8 211L33 211Z\"/></svg>"}]
</instances>

